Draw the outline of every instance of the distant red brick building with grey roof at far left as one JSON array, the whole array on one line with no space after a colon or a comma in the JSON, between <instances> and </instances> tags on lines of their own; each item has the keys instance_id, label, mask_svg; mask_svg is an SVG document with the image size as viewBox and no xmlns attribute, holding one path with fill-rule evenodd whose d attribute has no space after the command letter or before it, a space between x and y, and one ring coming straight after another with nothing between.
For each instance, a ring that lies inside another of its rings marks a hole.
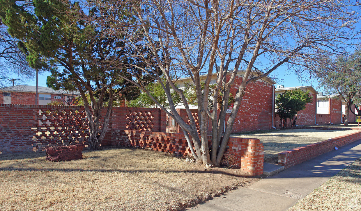
<instances>
[{"instance_id":1,"label":"distant red brick building with grey roof at far left","mask_svg":"<svg viewBox=\"0 0 361 211\"><path fill-rule=\"evenodd\" d=\"M0 88L0 104L35 105L35 89L35 86L28 85ZM38 104L48 105L53 101L59 101L64 105L71 105L73 97L78 95L76 92L69 93L61 89L55 91L49 87L38 87Z\"/></svg>"}]
</instances>

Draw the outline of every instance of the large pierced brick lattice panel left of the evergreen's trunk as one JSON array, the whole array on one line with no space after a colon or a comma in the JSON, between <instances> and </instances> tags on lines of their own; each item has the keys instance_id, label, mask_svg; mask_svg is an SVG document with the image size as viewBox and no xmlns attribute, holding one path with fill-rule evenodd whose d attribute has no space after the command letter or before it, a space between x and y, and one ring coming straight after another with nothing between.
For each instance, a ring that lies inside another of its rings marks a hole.
<instances>
[{"instance_id":1,"label":"large pierced brick lattice panel left of the evergreen's trunk","mask_svg":"<svg viewBox=\"0 0 361 211\"><path fill-rule=\"evenodd\" d=\"M89 137L88 120L84 110L39 109L38 126L32 128L32 145L42 150L50 146L85 144Z\"/></svg>"}]
</instances>

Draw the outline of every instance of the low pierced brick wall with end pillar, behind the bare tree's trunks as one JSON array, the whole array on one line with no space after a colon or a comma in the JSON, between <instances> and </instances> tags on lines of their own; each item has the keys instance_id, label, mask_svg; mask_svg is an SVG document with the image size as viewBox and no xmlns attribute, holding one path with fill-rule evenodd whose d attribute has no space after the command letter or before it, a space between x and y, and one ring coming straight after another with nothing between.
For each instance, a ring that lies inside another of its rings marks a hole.
<instances>
[{"instance_id":1,"label":"low pierced brick wall with end pillar, behind the bare tree's trunks","mask_svg":"<svg viewBox=\"0 0 361 211\"><path fill-rule=\"evenodd\" d=\"M208 136L209 142L212 136ZM178 155L191 153L187 140L182 133L165 133L151 131L117 130L113 132L113 141L109 145L139 146L156 151L165 151ZM264 146L259 139L230 137L229 153L235 155L236 165L250 176L263 173Z\"/></svg>"}]
</instances>

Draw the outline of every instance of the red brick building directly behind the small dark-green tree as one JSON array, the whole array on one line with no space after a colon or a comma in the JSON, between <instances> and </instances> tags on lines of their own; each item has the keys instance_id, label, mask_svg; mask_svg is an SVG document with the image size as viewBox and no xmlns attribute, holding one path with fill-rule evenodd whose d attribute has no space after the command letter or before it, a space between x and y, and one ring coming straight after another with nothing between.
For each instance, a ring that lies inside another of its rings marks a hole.
<instances>
[{"instance_id":1,"label":"red brick building directly behind the small dark-green tree","mask_svg":"<svg viewBox=\"0 0 361 211\"><path fill-rule=\"evenodd\" d=\"M286 90L301 89L306 92L309 91L310 96L312 97L312 102L306 104L306 108L297 113L297 122L298 126L301 125L315 125L316 123L316 95L318 92L312 86L299 86L299 87L283 87L279 86L275 89L275 94L282 94ZM276 115L274 119L274 127L279 128L279 117Z\"/></svg>"}]
</instances>

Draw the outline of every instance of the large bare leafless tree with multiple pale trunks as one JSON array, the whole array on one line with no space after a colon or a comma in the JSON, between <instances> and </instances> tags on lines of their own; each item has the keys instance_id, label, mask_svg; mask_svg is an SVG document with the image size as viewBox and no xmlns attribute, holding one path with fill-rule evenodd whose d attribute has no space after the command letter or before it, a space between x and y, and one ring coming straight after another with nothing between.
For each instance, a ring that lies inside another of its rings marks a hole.
<instances>
[{"instance_id":1,"label":"large bare leafless tree with multiple pale trunks","mask_svg":"<svg viewBox=\"0 0 361 211\"><path fill-rule=\"evenodd\" d=\"M94 2L113 9L112 1ZM288 64L301 74L320 57L344 52L348 39L356 33L352 29L358 19L358 13L353 11L356 7L349 1L146 0L132 3L139 22L134 26L134 34L127 39L140 41L142 46L151 49L166 81L162 82L156 72L152 74L165 90L170 111L149 96L177 121L197 163L215 166L220 165L236 114L243 109L244 94L252 93L248 85L268 77L281 65ZM115 34L129 27L122 24L119 17L104 15L102 18L102 21L113 21ZM137 51L139 45L132 47ZM219 112L217 100L208 108L214 75L213 99L218 99L219 91L222 92ZM237 76L242 81L235 84ZM176 85L177 79L184 77L190 78L196 88L199 131L183 90ZM131 83L148 94L140 82L141 79L137 79ZM223 133L231 87L238 91ZM189 124L175 110L171 89L181 97ZM207 137L208 118L212 120L212 151Z\"/></svg>"}]
</instances>

